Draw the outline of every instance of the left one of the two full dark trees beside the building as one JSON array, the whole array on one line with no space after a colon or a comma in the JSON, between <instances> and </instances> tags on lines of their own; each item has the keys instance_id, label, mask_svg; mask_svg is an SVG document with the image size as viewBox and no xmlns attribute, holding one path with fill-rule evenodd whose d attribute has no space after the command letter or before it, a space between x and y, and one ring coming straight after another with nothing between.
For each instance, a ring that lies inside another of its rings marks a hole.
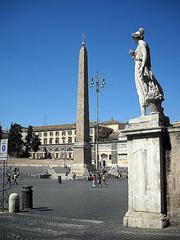
<instances>
[{"instance_id":1,"label":"left one of the two full dark trees beside the building","mask_svg":"<svg viewBox=\"0 0 180 240\"><path fill-rule=\"evenodd\" d=\"M20 124L11 123L8 135L8 154L12 157L23 155L24 143L22 141L22 127Z\"/></svg>"}]
</instances>

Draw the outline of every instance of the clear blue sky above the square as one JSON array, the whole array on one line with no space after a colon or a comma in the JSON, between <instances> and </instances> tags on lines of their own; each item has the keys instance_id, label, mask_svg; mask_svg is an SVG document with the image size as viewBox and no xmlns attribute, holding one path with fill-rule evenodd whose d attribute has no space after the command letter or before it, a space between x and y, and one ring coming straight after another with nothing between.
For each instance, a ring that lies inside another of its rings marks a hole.
<instances>
[{"instance_id":1,"label":"clear blue sky above the square","mask_svg":"<svg viewBox=\"0 0 180 240\"><path fill-rule=\"evenodd\" d=\"M99 70L99 118L140 115L131 33L145 29L165 114L180 121L180 1L0 0L0 123L23 126L76 121L78 58L86 34L89 80ZM89 89L90 120L96 120Z\"/></svg>"}]
</instances>

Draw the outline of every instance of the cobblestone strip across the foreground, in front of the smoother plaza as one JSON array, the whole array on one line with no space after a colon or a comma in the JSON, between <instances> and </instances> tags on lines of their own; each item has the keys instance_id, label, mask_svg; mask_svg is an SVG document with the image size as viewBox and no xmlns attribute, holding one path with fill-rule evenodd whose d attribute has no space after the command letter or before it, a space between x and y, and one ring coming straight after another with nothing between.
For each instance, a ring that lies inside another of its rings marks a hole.
<instances>
[{"instance_id":1,"label":"cobblestone strip across the foreground, in front of the smoother plaza","mask_svg":"<svg viewBox=\"0 0 180 240\"><path fill-rule=\"evenodd\" d=\"M0 239L180 239L177 229L142 230L92 219L19 213L1 214Z\"/></svg>"}]
</instances>

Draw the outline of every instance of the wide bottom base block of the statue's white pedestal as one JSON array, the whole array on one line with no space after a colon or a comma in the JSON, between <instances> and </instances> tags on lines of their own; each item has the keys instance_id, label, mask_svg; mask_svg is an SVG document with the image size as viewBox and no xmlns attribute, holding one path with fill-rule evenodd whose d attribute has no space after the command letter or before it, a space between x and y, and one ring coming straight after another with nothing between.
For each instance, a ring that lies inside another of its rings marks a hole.
<instances>
[{"instance_id":1,"label":"wide bottom base block of the statue's white pedestal","mask_svg":"<svg viewBox=\"0 0 180 240\"><path fill-rule=\"evenodd\" d=\"M125 227L162 229L169 225L165 214L128 211L123 218Z\"/></svg>"}]
</instances>

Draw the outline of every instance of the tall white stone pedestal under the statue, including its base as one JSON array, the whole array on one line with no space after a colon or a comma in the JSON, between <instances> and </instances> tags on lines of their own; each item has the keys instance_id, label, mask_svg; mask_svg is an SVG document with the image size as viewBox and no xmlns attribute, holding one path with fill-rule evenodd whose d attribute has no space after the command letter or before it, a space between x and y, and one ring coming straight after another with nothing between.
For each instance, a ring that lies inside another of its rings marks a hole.
<instances>
[{"instance_id":1,"label":"tall white stone pedestal under the statue, including its base","mask_svg":"<svg viewBox=\"0 0 180 240\"><path fill-rule=\"evenodd\" d=\"M158 114L129 121L124 133L128 150L127 227L163 228L167 226L165 186L166 127Z\"/></svg>"}]
</instances>

